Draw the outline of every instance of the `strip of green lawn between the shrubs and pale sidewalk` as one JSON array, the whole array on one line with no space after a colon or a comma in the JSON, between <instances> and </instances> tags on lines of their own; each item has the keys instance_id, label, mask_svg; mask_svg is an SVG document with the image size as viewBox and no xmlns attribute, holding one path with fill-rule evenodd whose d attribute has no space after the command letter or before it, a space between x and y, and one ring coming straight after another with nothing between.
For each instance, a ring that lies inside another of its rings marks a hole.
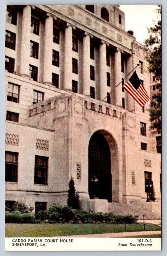
<instances>
[{"instance_id":1,"label":"strip of green lawn between the shrubs and pale sidewalk","mask_svg":"<svg viewBox=\"0 0 167 256\"><path fill-rule=\"evenodd\" d=\"M148 223L147 223L148 224ZM139 224L126 224L126 231L143 231L144 228ZM161 230L156 225L148 224L146 230ZM103 234L124 232L124 224L18 224L6 223L6 237L45 237L45 236L70 236L84 234Z\"/></svg>"}]
</instances>

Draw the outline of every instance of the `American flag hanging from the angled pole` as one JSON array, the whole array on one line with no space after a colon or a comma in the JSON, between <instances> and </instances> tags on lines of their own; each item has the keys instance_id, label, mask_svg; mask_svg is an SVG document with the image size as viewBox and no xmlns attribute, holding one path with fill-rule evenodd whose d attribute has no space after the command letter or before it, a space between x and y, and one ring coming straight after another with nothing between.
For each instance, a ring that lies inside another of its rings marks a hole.
<instances>
[{"instance_id":1,"label":"American flag hanging from the angled pole","mask_svg":"<svg viewBox=\"0 0 167 256\"><path fill-rule=\"evenodd\" d=\"M141 107L143 107L148 102L148 93L146 92L136 71L134 71L133 75L122 87L133 97L134 100L139 103Z\"/></svg>"}]
</instances>

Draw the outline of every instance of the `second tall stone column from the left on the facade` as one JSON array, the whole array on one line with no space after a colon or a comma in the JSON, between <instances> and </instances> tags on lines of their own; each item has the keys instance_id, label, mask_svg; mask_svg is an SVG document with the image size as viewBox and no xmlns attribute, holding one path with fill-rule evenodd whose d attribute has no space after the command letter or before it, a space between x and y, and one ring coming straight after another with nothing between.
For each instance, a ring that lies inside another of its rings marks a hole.
<instances>
[{"instance_id":1,"label":"second tall stone column from the left on the facade","mask_svg":"<svg viewBox=\"0 0 167 256\"><path fill-rule=\"evenodd\" d=\"M53 17L47 14L44 28L43 83L52 84Z\"/></svg>"}]
</instances>

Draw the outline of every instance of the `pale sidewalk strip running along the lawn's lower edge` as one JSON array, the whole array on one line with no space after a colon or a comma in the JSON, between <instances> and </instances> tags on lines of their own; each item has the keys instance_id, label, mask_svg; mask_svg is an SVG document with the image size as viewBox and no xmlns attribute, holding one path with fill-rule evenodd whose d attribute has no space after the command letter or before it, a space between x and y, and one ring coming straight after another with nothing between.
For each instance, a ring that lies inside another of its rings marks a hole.
<instances>
[{"instance_id":1,"label":"pale sidewalk strip running along the lawn's lower edge","mask_svg":"<svg viewBox=\"0 0 167 256\"><path fill-rule=\"evenodd\" d=\"M121 232L121 233L108 233L108 234L89 234L89 235L75 235L75 236L59 236L59 237L125 237L125 236L143 236L161 234L161 230L155 231L137 231L137 232Z\"/></svg>"}]
</instances>

